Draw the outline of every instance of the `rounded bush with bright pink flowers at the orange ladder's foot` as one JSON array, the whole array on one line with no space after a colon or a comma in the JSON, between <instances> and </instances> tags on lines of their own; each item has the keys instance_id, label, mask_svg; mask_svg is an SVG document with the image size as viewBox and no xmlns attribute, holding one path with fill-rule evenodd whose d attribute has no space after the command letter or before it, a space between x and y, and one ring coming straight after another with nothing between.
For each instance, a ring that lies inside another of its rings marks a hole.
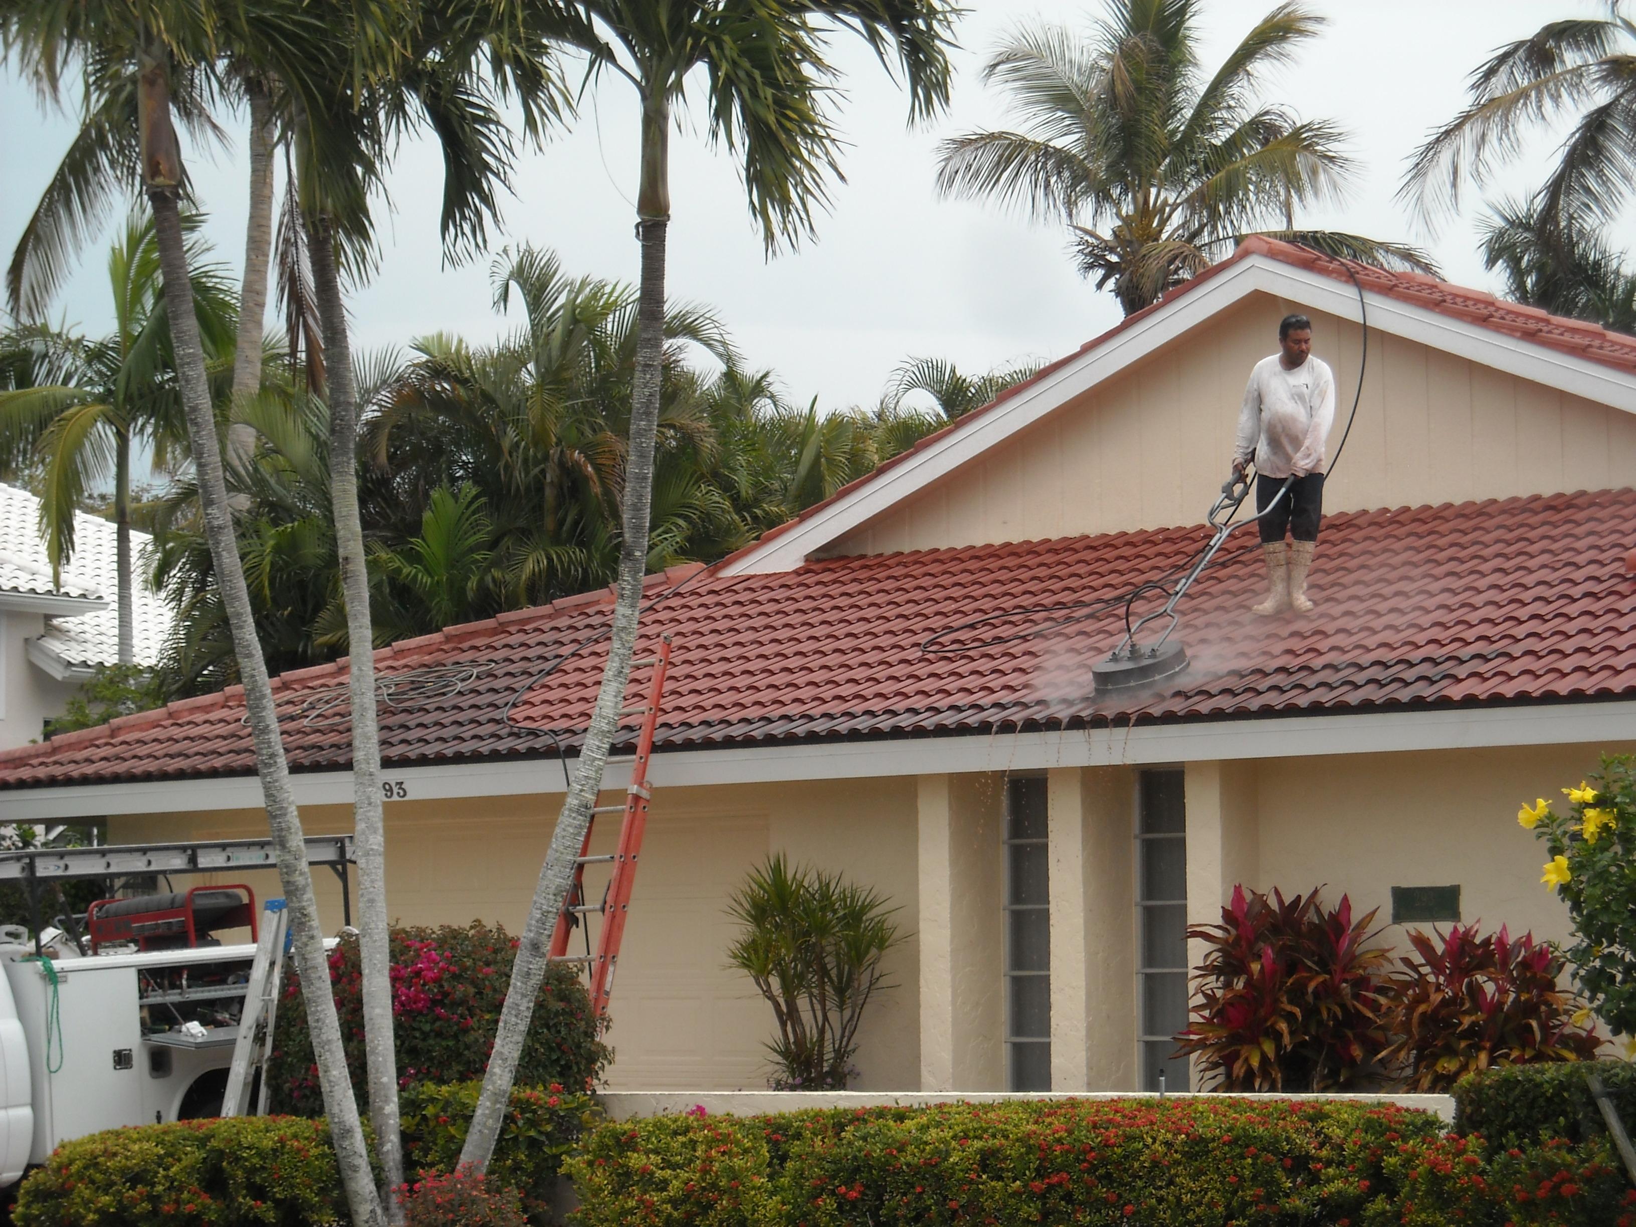
<instances>
[{"instance_id":1,"label":"rounded bush with bright pink flowers at the orange ladder's foot","mask_svg":"<svg viewBox=\"0 0 1636 1227\"><path fill-rule=\"evenodd\" d=\"M510 983L517 941L502 928L393 929L393 1022L399 1085L481 1078ZM330 954L330 985L347 1044L353 1091L365 1096L363 1006L358 942L345 937ZM612 1054L602 1044L605 1019L591 1013L584 983L569 967L548 967L522 1060L519 1086L561 1083L589 1090ZM319 1116L324 1099L308 1036L301 980L286 978L268 1062L273 1109Z\"/></svg>"}]
</instances>

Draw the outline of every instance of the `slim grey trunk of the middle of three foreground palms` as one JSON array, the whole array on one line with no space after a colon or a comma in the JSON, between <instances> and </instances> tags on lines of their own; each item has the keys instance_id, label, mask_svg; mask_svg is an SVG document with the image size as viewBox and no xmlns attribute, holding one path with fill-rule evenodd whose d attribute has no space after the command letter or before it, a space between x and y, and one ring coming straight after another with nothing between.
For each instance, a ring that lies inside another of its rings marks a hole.
<instances>
[{"instance_id":1,"label":"slim grey trunk of the middle of three foreground palms","mask_svg":"<svg viewBox=\"0 0 1636 1227\"><path fill-rule=\"evenodd\" d=\"M340 589L347 602L352 700L352 815L358 864L358 955L363 964L363 1052L368 1062L370 1122L381 1160L386 1212L401 1209L391 1189L404 1183L398 1116L398 1047L393 1039L391 944L386 933L386 826L381 815L381 735L375 710L375 627L370 573L358 514L358 393L352 381L352 339L340 301L335 240L322 218L308 227L312 291L324 330L329 393L329 491L335 517Z\"/></svg>"}]
</instances>

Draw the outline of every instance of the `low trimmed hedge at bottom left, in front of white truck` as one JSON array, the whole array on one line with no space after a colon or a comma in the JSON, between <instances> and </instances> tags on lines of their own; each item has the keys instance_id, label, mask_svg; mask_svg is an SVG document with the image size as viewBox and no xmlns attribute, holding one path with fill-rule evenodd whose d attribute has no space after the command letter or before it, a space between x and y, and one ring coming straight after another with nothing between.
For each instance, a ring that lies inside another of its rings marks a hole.
<instances>
[{"instance_id":1,"label":"low trimmed hedge at bottom left, in front of white truck","mask_svg":"<svg viewBox=\"0 0 1636 1227\"><path fill-rule=\"evenodd\" d=\"M64 1142L18 1191L18 1227L345 1224L324 1121L240 1116Z\"/></svg>"}]
</instances>

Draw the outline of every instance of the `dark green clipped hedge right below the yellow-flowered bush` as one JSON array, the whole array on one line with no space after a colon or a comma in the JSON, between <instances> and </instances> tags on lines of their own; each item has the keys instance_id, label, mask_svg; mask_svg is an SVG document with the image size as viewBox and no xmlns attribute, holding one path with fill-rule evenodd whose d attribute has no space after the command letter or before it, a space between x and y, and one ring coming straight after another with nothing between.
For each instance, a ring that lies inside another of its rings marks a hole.
<instances>
[{"instance_id":1,"label":"dark green clipped hedge right below the yellow-flowered bush","mask_svg":"<svg viewBox=\"0 0 1636 1227\"><path fill-rule=\"evenodd\" d=\"M1454 1086L1454 1132L1482 1134L1499 1145L1526 1145L1541 1135L1571 1144L1607 1135L1587 1075L1613 1093L1625 1127L1636 1132L1636 1065L1623 1060L1518 1065L1484 1070Z\"/></svg>"}]
</instances>

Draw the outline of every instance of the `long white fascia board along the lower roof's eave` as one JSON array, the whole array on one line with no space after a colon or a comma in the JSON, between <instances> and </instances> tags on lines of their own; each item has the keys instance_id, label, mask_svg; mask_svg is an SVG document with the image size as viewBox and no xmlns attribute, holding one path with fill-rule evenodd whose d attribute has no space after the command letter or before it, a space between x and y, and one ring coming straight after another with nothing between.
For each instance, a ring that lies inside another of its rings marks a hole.
<instances>
[{"instance_id":1,"label":"long white fascia board along the lower roof's eave","mask_svg":"<svg viewBox=\"0 0 1636 1227\"><path fill-rule=\"evenodd\" d=\"M1615 743L1636 743L1636 700L669 751L653 756L651 777L654 787L685 789L1212 759ZM465 800L561 797L563 774L560 761L533 759L386 767L381 779L386 787L401 785L404 800ZM602 787L623 789L628 779L628 767L615 762L604 772ZM290 777L290 784L299 805L352 803L350 771L296 774ZM7 821L258 808L262 808L262 787L254 775L0 792L0 811L7 815Z\"/></svg>"}]
</instances>

